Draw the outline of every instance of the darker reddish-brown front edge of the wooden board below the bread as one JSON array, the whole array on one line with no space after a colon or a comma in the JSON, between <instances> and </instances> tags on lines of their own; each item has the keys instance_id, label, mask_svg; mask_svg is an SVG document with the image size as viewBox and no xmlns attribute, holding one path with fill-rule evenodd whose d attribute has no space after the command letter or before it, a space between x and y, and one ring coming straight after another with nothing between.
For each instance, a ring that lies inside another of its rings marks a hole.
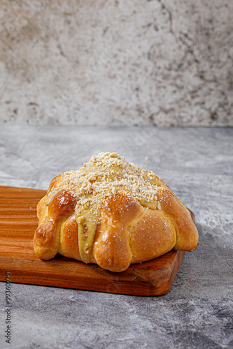
<instances>
[{"instance_id":1,"label":"darker reddish-brown front edge of the wooden board below the bread","mask_svg":"<svg viewBox=\"0 0 233 349\"><path fill-rule=\"evenodd\" d=\"M183 260L184 251L170 251L169 262L165 262L162 269L158 269L157 258L142 264L131 265L126 272L114 273L98 267L98 265L84 265L77 260L61 256L50 261L27 260L30 268L22 269L20 260L0 256L0 281L5 281L5 272L10 270L12 283L24 283L29 285L42 285L60 288L72 288L77 290L89 290L97 292L110 292L122 295L157 296L170 291L176 273ZM167 253L166 253L167 255ZM166 255L160 256L160 262ZM3 263L1 263L1 261ZM56 274L53 269L61 262L78 269L78 274ZM43 264L50 265L46 278L43 274ZM54 267L54 268L53 268Z\"/></svg>"}]
</instances>

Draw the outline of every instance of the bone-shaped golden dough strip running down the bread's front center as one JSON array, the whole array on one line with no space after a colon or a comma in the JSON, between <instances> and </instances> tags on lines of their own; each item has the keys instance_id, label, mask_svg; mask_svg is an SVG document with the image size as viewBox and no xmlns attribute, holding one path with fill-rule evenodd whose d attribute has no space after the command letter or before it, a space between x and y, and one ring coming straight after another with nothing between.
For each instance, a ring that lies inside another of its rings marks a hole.
<instances>
[{"instance_id":1,"label":"bone-shaped golden dough strip running down the bread's front center","mask_svg":"<svg viewBox=\"0 0 233 349\"><path fill-rule=\"evenodd\" d=\"M112 272L128 269L132 260L129 231L142 212L137 201L126 195L114 195L105 201L93 244L93 256L100 267Z\"/></svg>"}]
</instances>

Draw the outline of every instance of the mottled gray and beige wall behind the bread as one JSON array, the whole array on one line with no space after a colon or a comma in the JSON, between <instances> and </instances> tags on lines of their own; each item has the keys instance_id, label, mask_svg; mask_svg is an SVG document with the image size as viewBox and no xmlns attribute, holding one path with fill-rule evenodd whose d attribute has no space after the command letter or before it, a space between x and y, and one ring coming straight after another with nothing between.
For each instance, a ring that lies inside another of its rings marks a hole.
<instances>
[{"instance_id":1,"label":"mottled gray and beige wall behind the bread","mask_svg":"<svg viewBox=\"0 0 233 349\"><path fill-rule=\"evenodd\" d=\"M232 18L232 0L1 0L0 122L233 126Z\"/></svg>"}]
</instances>

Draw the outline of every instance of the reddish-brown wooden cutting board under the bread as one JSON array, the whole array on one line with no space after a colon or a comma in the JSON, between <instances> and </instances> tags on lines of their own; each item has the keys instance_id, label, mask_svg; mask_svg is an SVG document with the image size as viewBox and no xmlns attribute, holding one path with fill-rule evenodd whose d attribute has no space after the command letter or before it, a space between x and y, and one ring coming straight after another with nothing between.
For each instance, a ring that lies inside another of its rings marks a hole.
<instances>
[{"instance_id":1,"label":"reddish-brown wooden cutting board under the bread","mask_svg":"<svg viewBox=\"0 0 233 349\"><path fill-rule=\"evenodd\" d=\"M13 283L142 296L164 295L170 290L183 251L172 250L149 262L130 265L121 273L61 255L40 260L33 251L33 235L38 224L36 205L45 193L0 186L0 281L6 281L6 272L10 271Z\"/></svg>"}]
</instances>

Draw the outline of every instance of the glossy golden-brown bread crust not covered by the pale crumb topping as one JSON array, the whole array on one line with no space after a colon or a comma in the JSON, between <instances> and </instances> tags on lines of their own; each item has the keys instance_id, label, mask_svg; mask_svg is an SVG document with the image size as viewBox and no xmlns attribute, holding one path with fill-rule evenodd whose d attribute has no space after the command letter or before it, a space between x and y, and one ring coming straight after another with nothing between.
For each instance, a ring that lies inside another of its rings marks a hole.
<instances>
[{"instance_id":1,"label":"glossy golden-brown bread crust not covered by the pale crumb topping","mask_svg":"<svg viewBox=\"0 0 233 349\"><path fill-rule=\"evenodd\" d=\"M33 244L39 258L48 260L60 253L68 258L97 263L112 272L123 272L132 263L151 260L172 248L183 251L197 248L198 232L190 211L156 177L153 202L139 202L122 191L108 195L100 205L93 240L89 248L80 253L80 246L87 245L87 227L92 223L89 220L96 216L77 215L80 196L72 186L62 186L64 178L65 174L55 177L47 195L38 203L39 224ZM87 199L84 207L85 202ZM87 206L84 213L88 210Z\"/></svg>"}]
</instances>

